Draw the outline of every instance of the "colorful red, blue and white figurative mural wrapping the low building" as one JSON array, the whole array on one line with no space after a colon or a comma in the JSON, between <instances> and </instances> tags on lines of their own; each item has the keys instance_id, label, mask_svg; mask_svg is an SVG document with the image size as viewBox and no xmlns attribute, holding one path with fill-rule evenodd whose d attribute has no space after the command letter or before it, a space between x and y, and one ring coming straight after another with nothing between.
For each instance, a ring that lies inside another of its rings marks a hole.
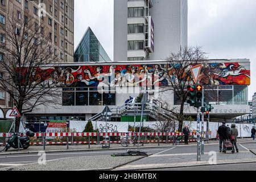
<instances>
[{"instance_id":1,"label":"colorful red, blue and white figurative mural wrapping the low building","mask_svg":"<svg viewBox=\"0 0 256 182\"><path fill-rule=\"evenodd\" d=\"M38 68L32 76L36 82L47 86L56 83L62 87L97 86L168 86L180 65L82 65ZM26 71L24 71L26 73ZM168 74L168 75L167 75ZM200 77L213 75L205 85L250 85L250 70L239 63L209 63L204 65ZM170 76L170 77L169 77Z\"/></svg>"}]
</instances>

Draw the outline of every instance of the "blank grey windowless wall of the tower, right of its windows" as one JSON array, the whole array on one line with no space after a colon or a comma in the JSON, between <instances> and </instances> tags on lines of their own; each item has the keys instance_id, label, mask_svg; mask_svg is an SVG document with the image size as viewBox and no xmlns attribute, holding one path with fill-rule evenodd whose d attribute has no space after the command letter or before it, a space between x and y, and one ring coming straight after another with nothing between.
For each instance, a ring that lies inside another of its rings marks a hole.
<instances>
[{"instance_id":1,"label":"blank grey windowless wall of the tower, right of its windows","mask_svg":"<svg viewBox=\"0 0 256 182\"><path fill-rule=\"evenodd\" d=\"M181 46L180 0L154 1L151 16L155 24L155 52L151 53L150 60L166 59L171 52L179 51ZM183 16L183 18L187 17ZM184 20L184 24L185 22ZM186 31L184 29L184 35Z\"/></svg>"}]
</instances>

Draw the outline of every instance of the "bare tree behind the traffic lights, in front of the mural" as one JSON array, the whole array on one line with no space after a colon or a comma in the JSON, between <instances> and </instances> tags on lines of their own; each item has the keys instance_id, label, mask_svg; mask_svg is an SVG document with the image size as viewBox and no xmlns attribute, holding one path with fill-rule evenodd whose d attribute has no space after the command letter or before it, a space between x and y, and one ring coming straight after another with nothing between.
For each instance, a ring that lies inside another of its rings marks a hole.
<instances>
[{"instance_id":1,"label":"bare tree behind the traffic lights, in front of the mural","mask_svg":"<svg viewBox=\"0 0 256 182\"><path fill-rule=\"evenodd\" d=\"M168 110L179 122L179 132L182 131L183 121L185 119L184 105L187 101L187 86L194 84L191 67L198 64L206 64L206 61L206 53L201 50L201 47L184 47L178 53L171 53L170 57L167 58L166 76L168 78L169 86L163 88L160 92L172 90L180 100L180 110L179 113L175 112L168 108L168 104L164 101L162 101L162 109ZM204 73L200 76L200 84L205 85L210 82L214 85L212 76L210 71Z\"/></svg>"}]
</instances>

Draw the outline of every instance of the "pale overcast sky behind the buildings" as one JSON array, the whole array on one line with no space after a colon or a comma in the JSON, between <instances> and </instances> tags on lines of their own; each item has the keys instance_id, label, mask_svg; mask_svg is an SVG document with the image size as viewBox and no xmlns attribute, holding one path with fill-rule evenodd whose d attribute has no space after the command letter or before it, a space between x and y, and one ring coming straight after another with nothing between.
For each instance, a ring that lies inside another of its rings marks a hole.
<instances>
[{"instance_id":1,"label":"pale overcast sky behind the buildings","mask_svg":"<svg viewBox=\"0 0 256 182\"><path fill-rule=\"evenodd\" d=\"M255 0L188 0L188 45L202 46L209 59L250 59L249 100L256 92L255 7ZM75 48L88 26L113 60L113 0L75 0Z\"/></svg>"}]
</instances>

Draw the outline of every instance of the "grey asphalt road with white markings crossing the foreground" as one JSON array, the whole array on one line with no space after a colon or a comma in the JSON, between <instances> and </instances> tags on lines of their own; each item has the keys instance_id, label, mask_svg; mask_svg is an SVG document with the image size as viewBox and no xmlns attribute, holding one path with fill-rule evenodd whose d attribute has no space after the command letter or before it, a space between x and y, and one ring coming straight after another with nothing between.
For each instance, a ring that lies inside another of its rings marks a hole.
<instances>
[{"instance_id":1,"label":"grey asphalt road with white markings crossing the foreground","mask_svg":"<svg viewBox=\"0 0 256 182\"><path fill-rule=\"evenodd\" d=\"M256 143L240 143L238 144L238 148L241 152L241 154L247 152L247 154L251 154L249 150L256 150ZM167 155L167 158L175 159L175 155L195 155L196 153L196 146L195 145L188 145L188 146L170 146L170 147L159 147L159 148L143 148L144 151L146 151L148 154L152 154L154 156L155 160L163 160L163 156ZM63 158L71 158L71 157L80 157L80 156L110 156L112 154L116 153L122 153L125 152L124 150L108 150L108 151L84 151L84 152L57 152L57 153L47 153L46 160L52 160L52 159L63 159ZM212 143L205 145L205 153L210 151L216 151L218 152L218 144ZM230 153L230 154L229 154ZM228 151L227 156L232 156L231 152ZM11 167L11 166L19 166L20 164L26 164L26 163L35 163L38 161L39 156L37 154L20 154L20 155L0 155L0 168L5 167ZM153 158L151 158L153 159ZM147 160L147 158L144 158L143 160ZM137 164L142 162L143 160L138 160ZM245 167L254 164L244 164ZM222 167L222 165L221 165ZM232 168L233 166L230 166ZM218 169L216 166L212 167L213 169ZM223 166L225 168L225 165ZM181 169L181 168L180 168ZM183 169L183 168L182 168ZM190 170L194 168L184 168L184 170ZM196 169L201 169L200 167L195 167ZM211 169L210 167L205 167L205 169ZM255 166L254 166L254 169ZM166 169L168 170L168 169ZM177 168L179 170L179 168Z\"/></svg>"}]
</instances>

